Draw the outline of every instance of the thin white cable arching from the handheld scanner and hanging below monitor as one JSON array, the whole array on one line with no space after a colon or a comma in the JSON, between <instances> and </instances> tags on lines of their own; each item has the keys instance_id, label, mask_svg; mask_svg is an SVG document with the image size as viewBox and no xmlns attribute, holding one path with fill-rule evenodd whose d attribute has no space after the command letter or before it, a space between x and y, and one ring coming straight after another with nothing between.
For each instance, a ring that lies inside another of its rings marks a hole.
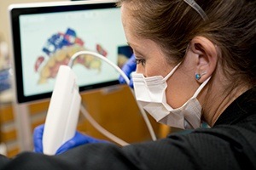
<instances>
[{"instance_id":1,"label":"thin white cable arching from the handheld scanner and hanging below monitor","mask_svg":"<svg viewBox=\"0 0 256 170\"><path fill-rule=\"evenodd\" d=\"M127 85L129 85L130 83L130 80L129 78L125 75L124 71L122 71L117 65L114 65L109 59L107 59L106 57L104 57L103 55L101 54L97 54L95 52L90 52L90 51L79 51L75 54L73 54L73 56L71 57L68 65L70 67L73 66L73 61L74 59L76 59L79 55L81 54L90 54L90 55L93 55L99 59L102 59L104 61L106 61L109 65L113 66L113 68L116 70L116 71L119 71L120 75L122 77L124 77L125 79L125 82L127 83ZM131 89L131 88L130 88ZM134 92L133 90L131 89L131 94L134 95ZM148 116L147 116L147 113L143 110L142 106L137 104L138 105L138 108L139 110L141 111L142 115L143 115L143 120L145 121L147 127L148 127L148 131L150 133L150 136L151 136L151 139L153 140L156 140L156 136L155 136L155 133L154 133L154 129L151 125L151 123L149 122L148 120ZM90 114L88 113L88 111L85 110L84 108L84 105L81 105L81 111L82 113L84 114L85 117L87 117L88 121L91 123L91 125L93 125L94 127L96 127L96 129L101 132L102 134L104 134L105 136L107 136L109 139L112 139L114 142L120 144L120 145L126 145L127 143L125 141L123 141L122 139L119 139L118 137L114 136L112 133L109 133L104 127L102 127L101 125L99 125L91 116ZM88 118L89 117L89 118Z\"/></svg>"}]
</instances>

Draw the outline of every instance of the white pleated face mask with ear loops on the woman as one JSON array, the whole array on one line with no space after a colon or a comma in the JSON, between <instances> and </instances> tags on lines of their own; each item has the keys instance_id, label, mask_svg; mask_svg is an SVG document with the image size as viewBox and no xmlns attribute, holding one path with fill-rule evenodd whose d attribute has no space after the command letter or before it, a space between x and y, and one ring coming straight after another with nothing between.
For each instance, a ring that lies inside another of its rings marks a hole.
<instances>
[{"instance_id":1,"label":"white pleated face mask with ear loops on the woman","mask_svg":"<svg viewBox=\"0 0 256 170\"><path fill-rule=\"evenodd\" d=\"M198 128L201 127L201 105L196 97L210 77L201 84L184 105L173 109L166 102L166 80L172 76L179 65L175 66L166 77L144 77L143 74L133 72L131 77L136 99L139 105L142 105L143 109L148 111L157 122L183 129Z\"/></svg>"}]
</instances>

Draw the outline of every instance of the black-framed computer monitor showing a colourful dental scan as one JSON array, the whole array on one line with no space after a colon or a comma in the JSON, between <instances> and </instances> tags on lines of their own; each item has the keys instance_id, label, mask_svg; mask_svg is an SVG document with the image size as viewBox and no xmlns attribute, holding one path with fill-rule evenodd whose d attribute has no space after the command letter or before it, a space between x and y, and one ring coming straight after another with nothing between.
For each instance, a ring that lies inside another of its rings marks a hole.
<instances>
[{"instance_id":1,"label":"black-framed computer monitor showing a colourful dental scan","mask_svg":"<svg viewBox=\"0 0 256 170\"><path fill-rule=\"evenodd\" d=\"M120 67L131 56L114 1L21 3L9 6L15 99L50 98L60 65L81 50L102 54ZM80 92L118 84L119 72L90 55L73 71Z\"/></svg>"}]
</instances>

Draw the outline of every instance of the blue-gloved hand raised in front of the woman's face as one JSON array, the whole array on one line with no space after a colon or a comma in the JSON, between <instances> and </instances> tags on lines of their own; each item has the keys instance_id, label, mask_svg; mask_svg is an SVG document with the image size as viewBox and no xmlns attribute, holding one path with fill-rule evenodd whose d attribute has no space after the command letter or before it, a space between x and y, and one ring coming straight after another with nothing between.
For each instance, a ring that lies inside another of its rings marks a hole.
<instances>
[{"instance_id":1,"label":"blue-gloved hand raised in front of the woman's face","mask_svg":"<svg viewBox=\"0 0 256 170\"><path fill-rule=\"evenodd\" d=\"M132 54L131 58L126 61L125 65L122 67L122 71L124 71L125 75L130 79L129 86L133 88L133 82L130 75L132 71L136 71L136 60L134 54ZM125 79L121 76L119 77L119 82L122 84L126 83Z\"/></svg>"}]
</instances>

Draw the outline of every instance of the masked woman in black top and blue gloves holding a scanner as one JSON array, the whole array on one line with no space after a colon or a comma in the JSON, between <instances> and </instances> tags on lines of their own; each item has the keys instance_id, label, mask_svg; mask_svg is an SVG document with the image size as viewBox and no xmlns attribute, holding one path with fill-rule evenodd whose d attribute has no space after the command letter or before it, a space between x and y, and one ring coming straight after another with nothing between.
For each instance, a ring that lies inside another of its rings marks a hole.
<instances>
[{"instance_id":1,"label":"masked woman in black top and blue gloves holding a scanner","mask_svg":"<svg viewBox=\"0 0 256 170\"><path fill-rule=\"evenodd\" d=\"M137 101L157 122L195 130L124 147L76 133L58 155L1 157L0 169L256 169L256 1L119 6ZM34 133L37 152L43 131Z\"/></svg>"}]
</instances>

